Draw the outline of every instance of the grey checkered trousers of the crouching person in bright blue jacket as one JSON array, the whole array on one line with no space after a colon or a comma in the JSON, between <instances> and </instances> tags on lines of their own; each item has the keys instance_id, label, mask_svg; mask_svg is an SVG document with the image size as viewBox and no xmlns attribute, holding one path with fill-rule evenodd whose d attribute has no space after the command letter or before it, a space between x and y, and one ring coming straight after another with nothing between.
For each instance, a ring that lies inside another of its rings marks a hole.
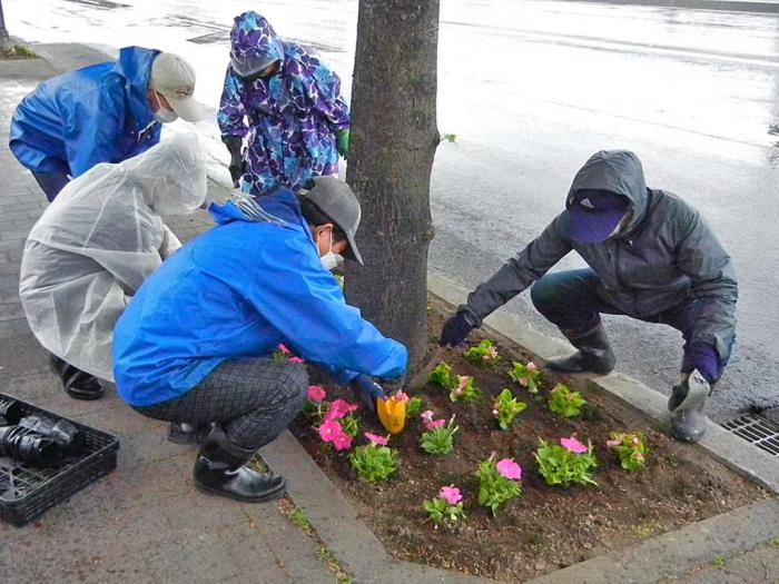
<instances>
[{"instance_id":1,"label":"grey checkered trousers of the crouching person in bright blue jacket","mask_svg":"<svg viewBox=\"0 0 779 584\"><path fill-rule=\"evenodd\" d=\"M273 442L306 400L308 374L303 365L265 357L230 359L181 397L140 414L167 422L220 423L227 438L247 451Z\"/></svg>"}]
</instances>

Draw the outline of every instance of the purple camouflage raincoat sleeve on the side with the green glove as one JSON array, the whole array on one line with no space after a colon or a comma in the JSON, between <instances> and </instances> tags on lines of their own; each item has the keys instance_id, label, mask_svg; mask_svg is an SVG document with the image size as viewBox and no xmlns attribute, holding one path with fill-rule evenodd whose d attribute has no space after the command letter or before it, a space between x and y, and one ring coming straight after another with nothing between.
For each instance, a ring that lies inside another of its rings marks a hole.
<instances>
[{"instance_id":1,"label":"purple camouflage raincoat sleeve on the side with the green glove","mask_svg":"<svg viewBox=\"0 0 779 584\"><path fill-rule=\"evenodd\" d=\"M297 60L289 63L293 78L298 80L293 100L302 111L313 108L327 120L335 132L349 127L349 108L341 95L341 79L324 62L309 57L312 65L304 69ZM310 103L310 106L307 106Z\"/></svg>"}]
</instances>

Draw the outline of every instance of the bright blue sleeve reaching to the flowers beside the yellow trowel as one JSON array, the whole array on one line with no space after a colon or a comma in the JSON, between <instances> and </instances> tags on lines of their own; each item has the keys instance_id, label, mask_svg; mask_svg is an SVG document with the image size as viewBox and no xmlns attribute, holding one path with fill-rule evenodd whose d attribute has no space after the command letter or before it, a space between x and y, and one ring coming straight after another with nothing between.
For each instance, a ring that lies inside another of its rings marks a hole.
<instances>
[{"instance_id":1,"label":"bright blue sleeve reaching to the flowers beside the yellow trowel","mask_svg":"<svg viewBox=\"0 0 779 584\"><path fill-rule=\"evenodd\" d=\"M337 280L298 234L279 234L274 245L266 240L256 250L263 267L241 268L237 285L243 296L299 355L334 372L341 382L354 372L388 379L404 375L406 348L346 304Z\"/></svg>"}]
</instances>

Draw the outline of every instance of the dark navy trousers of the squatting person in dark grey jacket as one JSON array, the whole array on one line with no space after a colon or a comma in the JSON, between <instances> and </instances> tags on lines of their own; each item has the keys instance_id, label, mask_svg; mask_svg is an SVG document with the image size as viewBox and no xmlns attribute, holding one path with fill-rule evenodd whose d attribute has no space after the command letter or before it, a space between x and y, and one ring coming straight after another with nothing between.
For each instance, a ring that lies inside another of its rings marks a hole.
<instances>
[{"instance_id":1,"label":"dark navy trousers of the squatting person in dark grey jacket","mask_svg":"<svg viewBox=\"0 0 779 584\"><path fill-rule=\"evenodd\" d=\"M566 337L575 338L598 326L602 314L625 314L601 298L598 294L599 287L600 278L592 269L573 269L546 274L533 284L530 296L539 313L558 325ZM694 335L696 326L700 323L699 317L703 308L704 304L701 300L690 298L658 315L640 319L645 323L669 325L681 331L684 338L682 373L690 373L694 369L691 358L694 348L690 340ZM724 363L720 364L716 379L722 374L724 365Z\"/></svg>"}]
</instances>

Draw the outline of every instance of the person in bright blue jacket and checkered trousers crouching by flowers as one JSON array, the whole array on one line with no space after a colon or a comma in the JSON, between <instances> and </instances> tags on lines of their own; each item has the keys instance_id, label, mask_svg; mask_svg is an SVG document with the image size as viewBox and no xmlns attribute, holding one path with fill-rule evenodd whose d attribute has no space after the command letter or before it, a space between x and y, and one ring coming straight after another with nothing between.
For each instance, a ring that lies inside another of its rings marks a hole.
<instances>
[{"instance_id":1,"label":"person in bright blue jacket and checkered trousers crouching by flowers","mask_svg":"<svg viewBox=\"0 0 779 584\"><path fill-rule=\"evenodd\" d=\"M245 463L297 416L308 388L304 366L274 360L276 347L371 399L384 395L373 378L400 386L407 353L346 304L329 271L343 256L362 264L359 204L345 182L318 177L299 197L247 200L211 205L219 225L136 293L114 334L114 373L140 414L213 424L195 463L200 489L260 502L285 493L284 477Z\"/></svg>"}]
</instances>

